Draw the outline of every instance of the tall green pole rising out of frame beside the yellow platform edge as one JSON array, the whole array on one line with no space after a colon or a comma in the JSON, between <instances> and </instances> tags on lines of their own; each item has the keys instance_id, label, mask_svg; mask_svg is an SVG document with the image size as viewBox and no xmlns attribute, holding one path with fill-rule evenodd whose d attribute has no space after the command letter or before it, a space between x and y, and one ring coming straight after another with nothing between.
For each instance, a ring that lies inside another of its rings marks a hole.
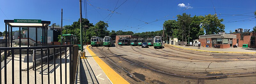
<instances>
[{"instance_id":1,"label":"tall green pole rising out of frame beside the yellow platform edge","mask_svg":"<svg viewBox=\"0 0 256 84\"><path fill-rule=\"evenodd\" d=\"M82 31L82 0L79 0L80 3L80 43L81 43L81 51L83 52L83 31Z\"/></svg>"}]
</instances>

